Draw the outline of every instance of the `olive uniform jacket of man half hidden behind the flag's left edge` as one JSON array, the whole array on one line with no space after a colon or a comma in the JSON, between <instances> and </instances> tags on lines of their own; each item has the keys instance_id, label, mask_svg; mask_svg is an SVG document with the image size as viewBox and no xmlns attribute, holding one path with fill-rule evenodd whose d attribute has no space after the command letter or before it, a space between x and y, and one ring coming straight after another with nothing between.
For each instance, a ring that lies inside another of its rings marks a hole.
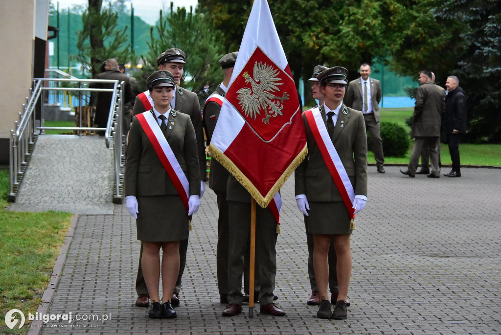
<instances>
[{"instance_id":1,"label":"olive uniform jacket of man half hidden behind the flag's left edge","mask_svg":"<svg viewBox=\"0 0 501 335\"><path fill-rule=\"evenodd\" d=\"M217 85L215 92L224 96L224 91L220 85ZM205 128L205 135L207 136L207 145L210 144L212 133L216 126L217 119L221 107L216 102L210 101L205 104L203 109L203 126ZM209 173L209 188L214 192L226 192L226 184L229 177L229 172L218 162L212 158L210 160L210 173Z\"/></svg>"}]
</instances>

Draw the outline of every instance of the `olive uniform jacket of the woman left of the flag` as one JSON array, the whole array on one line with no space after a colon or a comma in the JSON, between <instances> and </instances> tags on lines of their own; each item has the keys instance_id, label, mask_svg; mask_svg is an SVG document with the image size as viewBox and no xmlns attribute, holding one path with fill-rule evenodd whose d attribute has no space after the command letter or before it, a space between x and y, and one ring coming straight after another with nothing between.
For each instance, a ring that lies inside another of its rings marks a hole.
<instances>
[{"instance_id":1,"label":"olive uniform jacket of the woman left of the flag","mask_svg":"<svg viewBox=\"0 0 501 335\"><path fill-rule=\"evenodd\" d=\"M188 115L169 113L166 138L189 182L189 195L200 195L195 130ZM125 196L178 195L158 155L134 116L127 142Z\"/></svg>"}]
</instances>

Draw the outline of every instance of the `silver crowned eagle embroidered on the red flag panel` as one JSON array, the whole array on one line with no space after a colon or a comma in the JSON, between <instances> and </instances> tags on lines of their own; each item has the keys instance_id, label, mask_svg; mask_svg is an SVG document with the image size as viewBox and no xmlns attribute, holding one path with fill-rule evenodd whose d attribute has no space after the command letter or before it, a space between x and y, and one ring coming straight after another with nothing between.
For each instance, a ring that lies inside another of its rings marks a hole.
<instances>
[{"instance_id":1,"label":"silver crowned eagle embroidered on the red flag panel","mask_svg":"<svg viewBox=\"0 0 501 335\"><path fill-rule=\"evenodd\" d=\"M247 71L242 74L245 84L250 83L251 87L243 87L236 91L238 103L245 112L245 117L256 120L256 117L264 111L263 122L268 124L270 117L283 115L284 101L289 99L289 94L284 92L282 96L275 95L280 91L279 86L284 84L278 75L279 69L274 69L262 61L254 65L254 78Z\"/></svg>"}]
</instances>

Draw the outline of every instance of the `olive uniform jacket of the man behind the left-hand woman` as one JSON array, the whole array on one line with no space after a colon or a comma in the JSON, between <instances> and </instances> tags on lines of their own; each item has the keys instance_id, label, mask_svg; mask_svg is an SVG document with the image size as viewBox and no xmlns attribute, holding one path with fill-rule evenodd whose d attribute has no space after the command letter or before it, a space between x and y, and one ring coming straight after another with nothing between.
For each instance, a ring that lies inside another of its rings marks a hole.
<instances>
[{"instance_id":1,"label":"olive uniform jacket of the man behind the left-hand woman","mask_svg":"<svg viewBox=\"0 0 501 335\"><path fill-rule=\"evenodd\" d=\"M205 163L205 144L203 139L203 127L202 127L202 115L200 113L200 102L198 101L198 96L185 88L176 85L176 102L175 110L181 113L188 114L193 128L195 128L196 135L196 146L198 149L198 165L200 168L200 178L205 181L207 174L206 163ZM134 103L133 115L144 112L144 108L141 100L136 96L136 101Z\"/></svg>"}]
</instances>

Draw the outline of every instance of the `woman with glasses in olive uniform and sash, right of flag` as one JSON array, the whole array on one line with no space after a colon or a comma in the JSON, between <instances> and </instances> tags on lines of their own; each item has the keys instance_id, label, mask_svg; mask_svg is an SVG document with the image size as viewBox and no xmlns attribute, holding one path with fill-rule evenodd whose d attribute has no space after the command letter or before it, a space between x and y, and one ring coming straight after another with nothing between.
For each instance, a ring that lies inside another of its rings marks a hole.
<instances>
[{"instance_id":1,"label":"woman with glasses in olive uniform and sash, right of flag","mask_svg":"<svg viewBox=\"0 0 501 335\"><path fill-rule=\"evenodd\" d=\"M367 139L362 112L346 107L343 98L348 70L336 66L318 74L325 101L303 113L308 157L295 173L296 201L313 234L313 267L321 297L320 318L347 318L352 259L350 238L354 215L367 201ZM332 311L328 300L329 247L337 256L339 293ZM332 312L331 312L332 311Z\"/></svg>"}]
</instances>

